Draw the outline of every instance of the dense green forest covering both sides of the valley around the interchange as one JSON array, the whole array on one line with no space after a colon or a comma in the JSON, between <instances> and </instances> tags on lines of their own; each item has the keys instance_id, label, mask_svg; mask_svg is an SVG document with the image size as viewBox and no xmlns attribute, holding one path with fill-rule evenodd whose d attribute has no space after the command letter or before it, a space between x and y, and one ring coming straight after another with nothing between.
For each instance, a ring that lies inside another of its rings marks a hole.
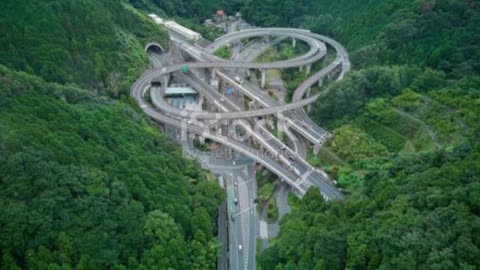
<instances>
[{"instance_id":1,"label":"dense green forest covering both sides of the valley around the interchange","mask_svg":"<svg viewBox=\"0 0 480 270\"><path fill-rule=\"evenodd\" d=\"M352 60L315 89L334 136L308 153L347 199L292 198L258 268L479 269L474 0L1 1L0 269L216 267L222 190L128 92L145 43L168 47L144 13L192 26L219 8L329 35Z\"/></svg>"}]
</instances>

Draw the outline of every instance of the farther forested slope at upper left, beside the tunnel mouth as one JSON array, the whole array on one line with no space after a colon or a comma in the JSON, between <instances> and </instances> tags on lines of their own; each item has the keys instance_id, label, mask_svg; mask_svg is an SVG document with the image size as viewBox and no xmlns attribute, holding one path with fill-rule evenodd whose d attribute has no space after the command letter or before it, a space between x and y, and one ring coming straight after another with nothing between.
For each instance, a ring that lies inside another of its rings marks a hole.
<instances>
[{"instance_id":1,"label":"farther forested slope at upper left, beside the tunnel mouth","mask_svg":"<svg viewBox=\"0 0 480 270\"><path fill-rule=\"evenodd\" d=\"M47 81L117 97L148 63L147 41L166 31L121 0L0 2L0 63Z\"/></svg>"}]
</instances>

